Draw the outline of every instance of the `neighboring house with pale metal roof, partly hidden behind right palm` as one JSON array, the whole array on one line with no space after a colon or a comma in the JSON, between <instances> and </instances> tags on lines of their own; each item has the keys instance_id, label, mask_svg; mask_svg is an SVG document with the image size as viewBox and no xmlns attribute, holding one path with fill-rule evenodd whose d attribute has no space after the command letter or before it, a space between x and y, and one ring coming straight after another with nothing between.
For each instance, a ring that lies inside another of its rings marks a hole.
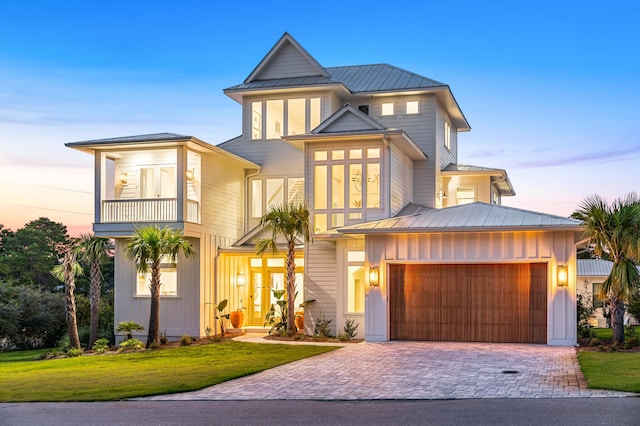
<instances>
[{"instance_id":1,"label":"neighboring house with pale metal roof, partly hidden behind right palm","mask_svg":"<svg viewBox=\"0 0 640 426\"><path fill-rule=\"evenodd\" d=\"M589 321L594 327L610 327L611 322L602 314L602 308L608 308L608 301L598 297L602 283L611 273L613 262L604 259L578 259L577 260L577 293L582 295L585 302L591 303L595 308L595 316ZM624 314L625 324L637 324L638 322L629 315Z\"/></svg>"}]
</instances>

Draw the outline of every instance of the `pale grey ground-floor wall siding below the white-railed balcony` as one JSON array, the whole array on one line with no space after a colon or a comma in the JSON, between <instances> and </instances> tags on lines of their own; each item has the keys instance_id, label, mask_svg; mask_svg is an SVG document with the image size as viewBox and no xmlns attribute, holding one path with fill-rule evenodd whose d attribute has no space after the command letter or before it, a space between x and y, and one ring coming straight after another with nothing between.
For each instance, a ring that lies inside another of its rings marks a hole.
<instances>
[{"instance_id":1,"label":"pale grey ground-floor wall siding below the white-railed balcony","mask_svg":"<svg viewBox=\"0 0 640 426\"><path fill-rule=\"evenodd\" d=\"M194 248L200 247L198 240L189 238ZM136 265L126 258L128 239L116 238L114 281L114 329L119 322L135 321L144 331L134 337L146 341L149 330L150 296L136 296ZM160 331L166 331L169 340L178 340L183 334L201 335L200 319L201 285L200 258L178 258L178 295L160 297ZM160 277L162 282L162 277ZM116 333L116 343L124 338Z\"/></svg>"}]
</instances>

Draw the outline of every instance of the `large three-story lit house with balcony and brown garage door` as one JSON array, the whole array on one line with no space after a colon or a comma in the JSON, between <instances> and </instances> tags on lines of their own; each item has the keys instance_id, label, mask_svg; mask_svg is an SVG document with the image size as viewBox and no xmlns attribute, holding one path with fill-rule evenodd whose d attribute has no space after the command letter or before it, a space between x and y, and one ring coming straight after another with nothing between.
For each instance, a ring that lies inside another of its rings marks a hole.
<instances>
[{"instance_id":1,"label":"large three-story lit house with balcony and brown garage door","mask_svg":"<svg viewBox=\"0 0 640 426\"><path fill-rule=\"evenodd\" d=\"M213 303L262 327L284 253L255 255L270 205L306 201L296 305L311 333L357 321L361 337L576 341L579 222L502 207L505 170L458 164L470 130L449 86L387 65L323 67L285 33L239 85L242 135L218 146L156 134L69 143L95 156L97 235L116 239L115 321L146 323L146 278L123 247L136 224L184 230L195 260L163 271L161 326L204 335ZM560 282L557 277L561 275Z\"/></svg>"}]
</instances>

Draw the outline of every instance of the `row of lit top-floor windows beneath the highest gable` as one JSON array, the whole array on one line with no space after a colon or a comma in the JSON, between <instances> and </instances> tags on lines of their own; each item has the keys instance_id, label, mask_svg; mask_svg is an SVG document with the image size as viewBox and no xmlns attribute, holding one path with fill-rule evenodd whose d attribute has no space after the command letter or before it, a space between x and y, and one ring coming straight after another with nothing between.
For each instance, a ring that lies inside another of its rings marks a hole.
<instances>
[{"instance_id":1,"label":"row of lit top-floor windows beneath the highest gable","mask_svg":"<svg viewBox=\"0 0 640 426\"><path fill-rule=\"evenodd\" d=\"M320 98L287 98L251 102L251 139L279 139L317 127Z\"/></svg>"}]
</instances>

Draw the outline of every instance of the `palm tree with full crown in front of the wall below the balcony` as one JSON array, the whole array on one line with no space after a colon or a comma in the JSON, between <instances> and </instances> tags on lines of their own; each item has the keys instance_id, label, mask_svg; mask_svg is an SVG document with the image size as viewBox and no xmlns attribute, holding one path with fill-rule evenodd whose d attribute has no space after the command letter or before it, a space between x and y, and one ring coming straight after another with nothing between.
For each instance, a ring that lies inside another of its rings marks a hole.
<instances>
[{"instance_id":1,"label":"palm tree with full crown in front of the wall below the balcony","mask_svg":"<svg viewBox=\"0 0 640 426\"><path fill-rule=\"evenodd\" d=\"M127 257L136 263L138 271L151 271L149 288L151 289L151 313L149 316L149 334L146 346L157 343L160 332L160 263L163 257L175 262L182 252L185 257L194 255L191 243L180 231L169 228L160 229L156 225L136 228L126 248Z\"/></svg>"}]
</instances>

